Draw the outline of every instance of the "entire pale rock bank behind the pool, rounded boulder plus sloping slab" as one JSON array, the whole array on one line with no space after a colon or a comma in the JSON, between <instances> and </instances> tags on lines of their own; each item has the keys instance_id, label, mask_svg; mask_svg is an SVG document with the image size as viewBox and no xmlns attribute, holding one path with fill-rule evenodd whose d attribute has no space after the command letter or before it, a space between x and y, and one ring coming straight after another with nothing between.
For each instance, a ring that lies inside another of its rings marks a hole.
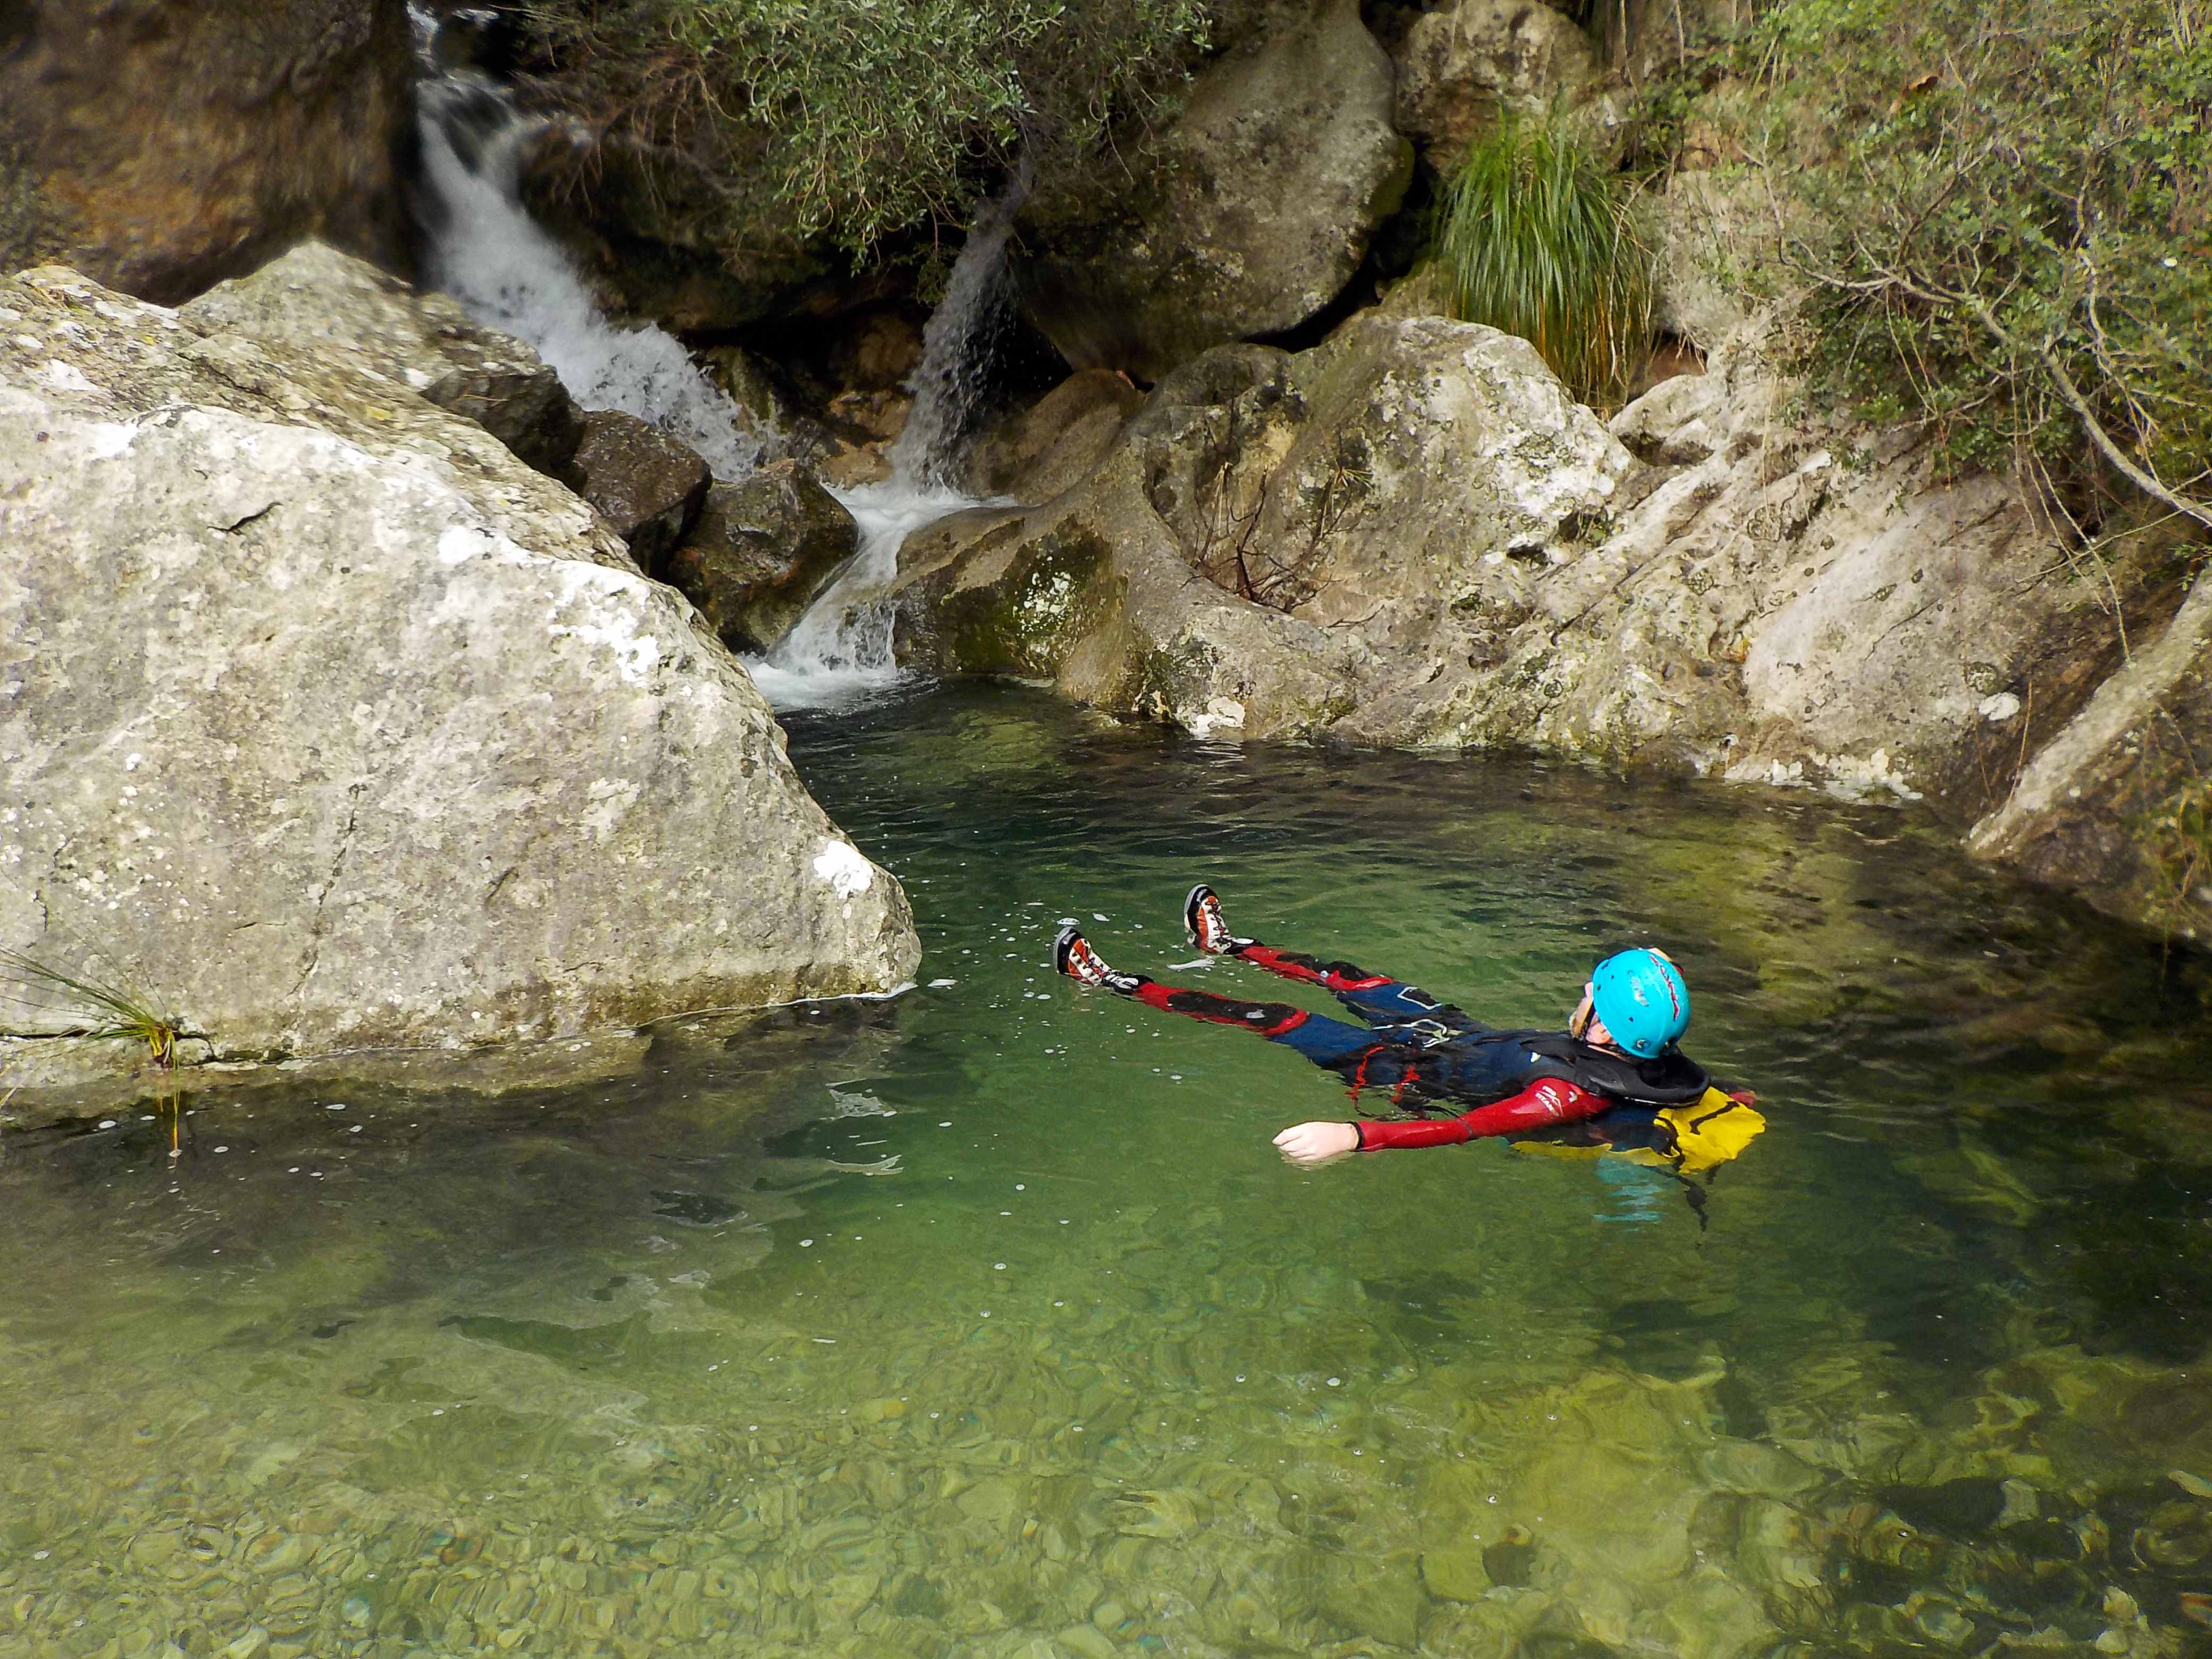
<instances>
[{"instance_id":1,"label":"entire pale rock bank behind the pool, rounded boulder plus sloping slab","mask_svg":"<svg viewBox=\"0 0 2212 1659\"><path fill-rule=\"evenodd\" d=\"M2112 648L2011 487L1790 429L1743 343L1606 434L1517 338L1210 352L1057 500L900 555L900 648L1199 732L2006 787ZM1632 460L1635 451L1641 460Z\"/></svg>"}]
</instances>

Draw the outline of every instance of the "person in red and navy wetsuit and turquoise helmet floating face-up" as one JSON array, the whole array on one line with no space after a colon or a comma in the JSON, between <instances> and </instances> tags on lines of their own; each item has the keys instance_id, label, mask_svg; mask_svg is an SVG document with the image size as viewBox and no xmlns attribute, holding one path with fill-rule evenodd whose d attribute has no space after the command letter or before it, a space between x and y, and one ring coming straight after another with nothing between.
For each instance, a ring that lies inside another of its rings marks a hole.
<instances>
[{"instance_id":1,"label":"person in red and navy wetsuit and turquoise helmet floating face-up","mask_svg":"<svg viewBox=\"0 0 2212 1659\"><path fill-rule=\"evenodd\" d=\"M1699 1121L1679 1113L1747 1110L1754 1102L1750 1091L1714 1088L1705 1068L1677 1048L1690 1024L1690 987L1666 951L1632 949L1604 958L1590 971L1566 1031L1493 1031L1385 973L1239 938L1223 920L1214 889L1203 883L1183 900L1183 929L1206 956L1234 956L1285 980L1334 991L1365 1024L1327 1020L1290 1002L1239 1002L1124 973L1108 967L1075 927L1064 927L1053 940L1053 967L1079 984L1117 991L1150 1009L1256 1031L1340 1075L1354 1102L1365 1088L1383 1088L1394 1106L1411 1110L1467 1108L1455 1117L1413 1121L1294 1124L1274 1137L1294 1164L1391 1146L1455 1146L1606 1115L1628 1117L1630 1137L1650 1150L1655 1133L1659 1141L1672 1141L1686 1121ZM1756 1135L1756 1128L1750 1133ZM1606 1135L1593 1144L1617 1141L1619 1135Z\"/></svg>"}]
</instances>

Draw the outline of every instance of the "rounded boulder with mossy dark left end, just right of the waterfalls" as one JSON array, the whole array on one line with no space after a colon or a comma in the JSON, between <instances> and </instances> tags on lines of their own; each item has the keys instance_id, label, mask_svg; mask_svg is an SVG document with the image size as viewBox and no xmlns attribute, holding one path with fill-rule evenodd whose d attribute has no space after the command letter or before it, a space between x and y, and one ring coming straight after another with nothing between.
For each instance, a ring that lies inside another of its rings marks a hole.
<instances>
[{"instance_id":1,"label":"rounded boulder with mossy dark left end, just right of the waterfalls","mask_svg":"<svg viewBox=\"0 0 2212 1659\"><path fill-rule=\"evenodd\" d=\"M1586 538L1628 467L1489 327L1369 312L1312 352L1223 347L1077 489L911 538L900 650L1197 732L1425 741L1458 611Z\"/></svg>"}]
</instances>

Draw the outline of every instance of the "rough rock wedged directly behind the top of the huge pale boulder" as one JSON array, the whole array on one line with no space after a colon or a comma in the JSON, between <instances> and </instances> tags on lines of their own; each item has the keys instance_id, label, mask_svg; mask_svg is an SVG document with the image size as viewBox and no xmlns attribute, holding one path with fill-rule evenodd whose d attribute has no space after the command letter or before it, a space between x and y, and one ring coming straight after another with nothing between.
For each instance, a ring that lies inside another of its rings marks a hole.
<instances>
[{"instance_id":1,"label":"rough rock wedged directly behind the top of the huge pale boulder","mask_svg":"<svg viewBox=\"0 0 2212 1659\"><path fill-rule=\"evenodd\" d=\"M467 416L553 478L584 440L584 411L529 345L321 241L217 283L177 316L201 334L338 352Z\"/></svg>"}]
</instances>

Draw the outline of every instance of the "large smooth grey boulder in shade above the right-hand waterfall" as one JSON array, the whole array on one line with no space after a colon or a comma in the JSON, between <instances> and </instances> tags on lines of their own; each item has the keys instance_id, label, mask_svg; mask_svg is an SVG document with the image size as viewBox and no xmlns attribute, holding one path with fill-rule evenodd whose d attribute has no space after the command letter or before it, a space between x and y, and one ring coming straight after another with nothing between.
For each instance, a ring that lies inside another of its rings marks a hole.
<instances>
[{"instance_id":1,"label":"large smooth grey boulder in shade above the right-hand waterfall","mask_svg":"<svg viewBox=\"0 0 2212 1659\"><path fill-rule=\"evenodd\" d=\"M1409 177L1389 58L1358 7L1292 4L1199 73L1126 186L1040 188L1024 307L1073 367L1157 380L1327 305Z\"/></svg>"}]
</instances>

